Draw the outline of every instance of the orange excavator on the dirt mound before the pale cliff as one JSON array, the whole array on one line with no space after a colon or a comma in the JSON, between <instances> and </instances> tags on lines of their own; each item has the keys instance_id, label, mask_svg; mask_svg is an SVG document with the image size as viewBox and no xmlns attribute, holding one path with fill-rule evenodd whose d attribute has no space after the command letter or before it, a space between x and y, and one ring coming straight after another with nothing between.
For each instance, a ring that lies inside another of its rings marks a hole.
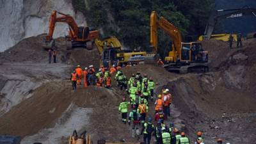
<instances>
[{"instance_id":1,"label":"orange excavator on the dirt mound before the pale cliff","mask_svg":"<svg viewBox=\"0 0 256 144\"><path fill-rule=\"evenodd\" d=\"M57 13L61 16L57 17ZM68 36L65 36L67 40L67 49L75 47L85 47L86 49L92 49L92 43L95 38L99 38L99 31L96 29L90 29L89 27L77 26L76 21L70 15L52 11L51 18L49 20L49 32L45 38L44 49L52 49L54 47L54 40L52 35L56 22L65 22L68 24Z\"/></svg>"}]
</instances>

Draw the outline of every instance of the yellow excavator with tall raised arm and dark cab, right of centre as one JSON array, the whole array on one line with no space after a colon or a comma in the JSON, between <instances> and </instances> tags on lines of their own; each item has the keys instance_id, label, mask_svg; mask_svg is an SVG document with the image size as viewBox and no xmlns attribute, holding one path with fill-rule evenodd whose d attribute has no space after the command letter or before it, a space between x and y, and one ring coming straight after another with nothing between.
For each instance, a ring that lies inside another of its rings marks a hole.
<instances>
[{"instance_id":1,"label":"yellow excavator with tall raised arm and dark cab, right of centre","mask_svg":"<svg viewBox=\"0 0 256 144\"><path fill-rule=\"evenodd\" d=\"M159 18L159 19L158 19ZM164 17L157 17L156 11L150 15L150 44L157 52L157 30L163 29L173 40L172 51L164 58L164 68L170 72L208 72L208 52L200 42L182 42L179 29Z\"/></svg>"}]
</instances>

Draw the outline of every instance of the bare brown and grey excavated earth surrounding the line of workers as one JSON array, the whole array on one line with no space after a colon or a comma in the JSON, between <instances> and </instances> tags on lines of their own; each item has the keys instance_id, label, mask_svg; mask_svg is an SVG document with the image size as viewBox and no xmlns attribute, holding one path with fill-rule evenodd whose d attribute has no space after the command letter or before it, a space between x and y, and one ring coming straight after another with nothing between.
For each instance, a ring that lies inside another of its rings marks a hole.
<instances>
[{"instance_id":1,"label":"bare brown and grey excavated earth surrounding the line of workers","mask_svg":"<svg viewBox=\"0 0 256 144\"><path fill-rule=\"evenodd\" d=\"M64 38L56 40L58 63L47 63L42 36L31 37L0 53L0 134L22 137L21 143L67 143L74 129L97 140L136 142L131 126L122 124L118 104L124 91L79 86L71 90L70 72L75 65L99 66L97 50L65 50ZM173 74L154 65L125 67L125 76L140 71L156 81L156 94L163 86L173 94L171 118L191 141L204 132L205 143L223 138L227 143L256 140L256 40L243 48L229 49L226 42L205 40L211 72ZM154 115L154 104L150 102ZM140 138L139 141L141 141ZM192 142L191 142L192 143Z\"/></svg>"}]
</instances>

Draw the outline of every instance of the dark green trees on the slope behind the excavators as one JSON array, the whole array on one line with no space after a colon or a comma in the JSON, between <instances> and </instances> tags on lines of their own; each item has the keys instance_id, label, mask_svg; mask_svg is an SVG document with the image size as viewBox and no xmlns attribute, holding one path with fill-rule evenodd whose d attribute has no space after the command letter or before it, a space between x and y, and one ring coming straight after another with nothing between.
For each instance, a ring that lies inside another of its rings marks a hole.
<instances>
[{"instance_id":1,"label":"dark green trees on the slope behind the excavators","mask_svg":"<svg viewBox=\"0 0 256 144\"><path fill-rule=\"evenodd\" d=\"M87 0L88 9L81 2L84 0L73 1L77 1L75 5L73 3L74 8L83 13L86 11L89 26L102 29L102 36L115 35L131 49L142 47L147 50L152 10L177 26L183 36L199 35L204 31L214 0ZM168 48L161 51L162 56L170 51L171 44L170 36L159 31L159 47Z\"/></svg>"}]
</instances>

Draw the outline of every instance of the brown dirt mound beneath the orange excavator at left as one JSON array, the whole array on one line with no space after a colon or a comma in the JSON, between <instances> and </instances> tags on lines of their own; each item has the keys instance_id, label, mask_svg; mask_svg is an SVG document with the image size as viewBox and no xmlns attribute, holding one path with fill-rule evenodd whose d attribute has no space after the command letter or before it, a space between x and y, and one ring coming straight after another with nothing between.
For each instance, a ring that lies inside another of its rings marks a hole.
<instances>
[{"instance_id":1,"label":"brown dirt mound beneath the orange excavator at left","mask_svg":"<svg viewBox=\"0 0 256 144\"><path fill-rule=\"evenodd\" d=\"M32 36L21 40L10 49L0 53L0 63L32 61L48 62L48 52L43 48L45 35ZM57 61L67 62L72 65L80 64L84 67L95 65L99 67L100 55L97 49L88 51L84 48L77 48L67 51L65 38L56 38L56 49L58 52Z\"/></svg>"}]
</instances>

